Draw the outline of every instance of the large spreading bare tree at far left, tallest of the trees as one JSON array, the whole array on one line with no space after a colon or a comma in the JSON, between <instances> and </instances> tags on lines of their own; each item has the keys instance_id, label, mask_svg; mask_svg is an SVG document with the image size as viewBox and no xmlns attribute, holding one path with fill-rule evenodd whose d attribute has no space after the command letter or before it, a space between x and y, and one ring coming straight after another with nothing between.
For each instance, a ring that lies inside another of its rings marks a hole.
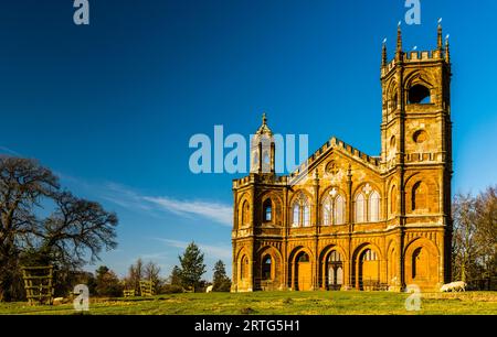
<instances>
[{"instance_id":1,"label":"large spreading bare tree at far left, tallest of the trees","mask_svg":"<svg viewBox=\"0 0 497 337\"><path fill-rule=\"evenodd\" d=\"M54 209L40 218L46 200ZM57 177L36 161L0 156L0 301L15 296L21 258L80 267L116 247L116 225L97 203L60 192Z\"/></svg>"}]
</instances>

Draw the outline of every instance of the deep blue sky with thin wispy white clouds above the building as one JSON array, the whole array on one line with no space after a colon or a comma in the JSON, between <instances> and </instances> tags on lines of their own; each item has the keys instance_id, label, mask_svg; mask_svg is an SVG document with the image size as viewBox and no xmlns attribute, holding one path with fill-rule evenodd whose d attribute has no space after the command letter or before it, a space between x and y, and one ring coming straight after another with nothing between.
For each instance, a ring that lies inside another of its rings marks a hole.
<instances>
[{"instance_id":1,"label":"deep blue sky with thin wispy white clouds above the building","mask_svg":"<svg viewBox=\"0 0 497 337\"><path fill-rule=\"evenodd\" d=\"M39 159L118 214L102 263L119 274L141 257L166 275L191 240L210 270L231 270L239 175L192 174L195 133L248 137L266 111L275 132L308 133L311 152L331 135L380 151L381 42L392 57L403 0L89 0L88 26L72 2L0 4L0 152ZM497 182L497 2L421 4L404 48L434 48L443 18L454 191L476 193Z\"/></svg>"}]
</instances>

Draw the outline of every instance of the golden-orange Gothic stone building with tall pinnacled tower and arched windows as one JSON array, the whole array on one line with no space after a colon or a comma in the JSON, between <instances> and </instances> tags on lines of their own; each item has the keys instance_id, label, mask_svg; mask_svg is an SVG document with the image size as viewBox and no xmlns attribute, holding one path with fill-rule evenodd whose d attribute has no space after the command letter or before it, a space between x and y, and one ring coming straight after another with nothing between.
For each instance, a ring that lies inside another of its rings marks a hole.
<instances>
[{"instance_id":1,"label":"golden-orange Gothic stone building with tall pinnacled tower and arched windows","mask_svg":"<svg viewBox=\"0 0 497 337\"><path fill-rule=\"evenodd\" d=\"M451 61L383 45L381 155L332 138L299 170L275 174L264 117L251 173L233 181L234 292L431 291L451 279ZM266 143L264 142L266 140Z\"/></svg>"}]
</instances>

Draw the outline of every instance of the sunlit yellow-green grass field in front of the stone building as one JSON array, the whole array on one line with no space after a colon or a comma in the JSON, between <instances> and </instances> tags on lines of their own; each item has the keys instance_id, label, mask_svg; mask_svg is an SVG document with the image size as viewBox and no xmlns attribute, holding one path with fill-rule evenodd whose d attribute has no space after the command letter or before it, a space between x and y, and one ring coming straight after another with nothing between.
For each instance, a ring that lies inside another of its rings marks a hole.
<instances>
[{"instance_id":1,"label":"sunlit yellow-green grass field in front of the stone building","mask_svg":"<svg viewBox=\"0 0 497 337\"><path fill-rule=\"evenodd\" d=\"M497 315L497 292L423 294L419 312L405 309L406 294L364 292L272 292L171 294L148 298L96 300L91 315ZM75 314L72 304L28 306L0 303L0 314Z\"/></svg>"}]
</instances>

